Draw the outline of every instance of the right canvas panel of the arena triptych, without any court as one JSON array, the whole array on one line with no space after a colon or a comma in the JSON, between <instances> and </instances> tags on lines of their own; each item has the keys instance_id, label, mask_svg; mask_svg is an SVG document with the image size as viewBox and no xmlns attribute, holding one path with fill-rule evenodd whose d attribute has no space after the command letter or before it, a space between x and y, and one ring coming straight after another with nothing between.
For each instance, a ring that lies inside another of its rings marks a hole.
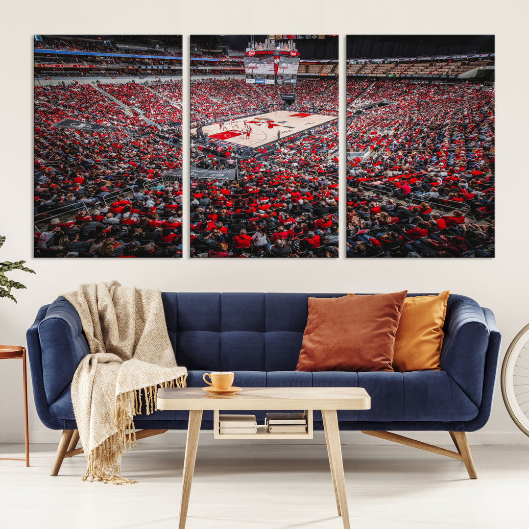
<instances>
[{"instance_id":1,"label":"right canvas panel of the arena triptych, without any court","mask_svg":"<svg viewBox=\"0 0 529 529\"><path fill-rule=\"evenodd\" d=\"M494 257L493 35L347 40L347 257Z\"/></svg>"}]
</instances>

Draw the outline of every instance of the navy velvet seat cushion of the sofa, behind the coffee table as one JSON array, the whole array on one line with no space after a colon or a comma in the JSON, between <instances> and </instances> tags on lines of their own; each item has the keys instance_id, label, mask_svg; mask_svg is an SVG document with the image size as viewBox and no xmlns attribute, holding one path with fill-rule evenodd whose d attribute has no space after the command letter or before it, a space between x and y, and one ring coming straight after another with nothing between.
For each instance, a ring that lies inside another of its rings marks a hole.
<instances>
[{"instance_id":1,"label":"navy velvet seat cushion of the sofa, behind the coffee table","mask_svg":"<svg viewBox=\"0 0 529 529\"><path fill-rule=\"evenodd\" d=\"M189 371L188 386L204 387L205 371ZM444 371L411 371L396 373L372 371L235 371L234 385L239 387L363 387L371 396L371 409L339 410L340 421L354 422L450 422L469 421L476 417L478 408ZM205 394L206 392L204 392ZM75 420L71 405L70 386L51 404L50 413L62 420ZM287 410L285 410L287 411ZM224 413L250 413L223 410ZM255 411L263 421L266 411ZM157 427L174 428L171 421L187 421L187 410L158 410L150 415L142 413L134 422L167 421ZM212 420L212 412L204 412L204 421ZM319 411L314 421L322 420ZM356 429L354 426L348 429Z\"/></svg>"}]
</instances>

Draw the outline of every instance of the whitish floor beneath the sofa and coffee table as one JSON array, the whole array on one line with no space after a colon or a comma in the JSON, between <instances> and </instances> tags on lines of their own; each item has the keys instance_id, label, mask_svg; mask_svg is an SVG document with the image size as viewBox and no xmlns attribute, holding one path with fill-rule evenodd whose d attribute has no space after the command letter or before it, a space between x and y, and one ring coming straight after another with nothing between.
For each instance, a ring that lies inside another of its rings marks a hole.
<instances>
[{"instance_id":1,"label":"whitish floor beneath the sofa and coffee table","mask_svg":"<svg viewBox=\"0 0 529 529\"><path fill-rule=\"evenodd\" d=\"M452 449L453 447L446 446ZM123 457L134 485L83 482L83 455L49 470L56 446L32 444L30 468L0 461L0 527L178 526L182 445L138 445ZM351 527L527 529L529 446L471 446L461 461L400 445L342 447ZM1 457L23 457L2 444ZM340 529L325 445L199 445L186 529Z\"/></svg>"}]
</instances>

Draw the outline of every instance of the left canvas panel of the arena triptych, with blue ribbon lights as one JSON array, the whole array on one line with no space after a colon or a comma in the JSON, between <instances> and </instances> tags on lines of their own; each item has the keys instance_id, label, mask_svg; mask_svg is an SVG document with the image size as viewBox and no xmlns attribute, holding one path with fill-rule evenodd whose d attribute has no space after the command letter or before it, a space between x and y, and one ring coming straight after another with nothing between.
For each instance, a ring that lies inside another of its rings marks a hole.
<instances>
[{"instance_id":1,"label":"left canvas panel of the arena triptych, with blue ribbon lights","mask_svg":"<svg viewBox=\"0 0 529 529\"><path fill-rule=\"evenodd\" d=\"M34 256L181 257L181 37L34 47Z\"/></svg>"}]
</instances>

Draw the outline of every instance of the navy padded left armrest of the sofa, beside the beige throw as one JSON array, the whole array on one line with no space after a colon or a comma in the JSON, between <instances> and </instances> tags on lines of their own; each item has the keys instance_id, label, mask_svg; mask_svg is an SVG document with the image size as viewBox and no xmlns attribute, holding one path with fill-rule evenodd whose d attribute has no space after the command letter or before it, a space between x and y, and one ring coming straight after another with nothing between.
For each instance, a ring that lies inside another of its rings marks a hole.
<instances>
[{"instance_id":1,"label":"navy padded left armrest of the sofa, beside the beige throw","mask_svg":"<svg viewBox=\"0 0 529 529\"><path fill-rule=\"evenodd\" d=\"M52 404L68 387L81 359L90 352L75 308L66 298L57 298L37 326L44 393Z\"/></svg>"}]
</instances>

